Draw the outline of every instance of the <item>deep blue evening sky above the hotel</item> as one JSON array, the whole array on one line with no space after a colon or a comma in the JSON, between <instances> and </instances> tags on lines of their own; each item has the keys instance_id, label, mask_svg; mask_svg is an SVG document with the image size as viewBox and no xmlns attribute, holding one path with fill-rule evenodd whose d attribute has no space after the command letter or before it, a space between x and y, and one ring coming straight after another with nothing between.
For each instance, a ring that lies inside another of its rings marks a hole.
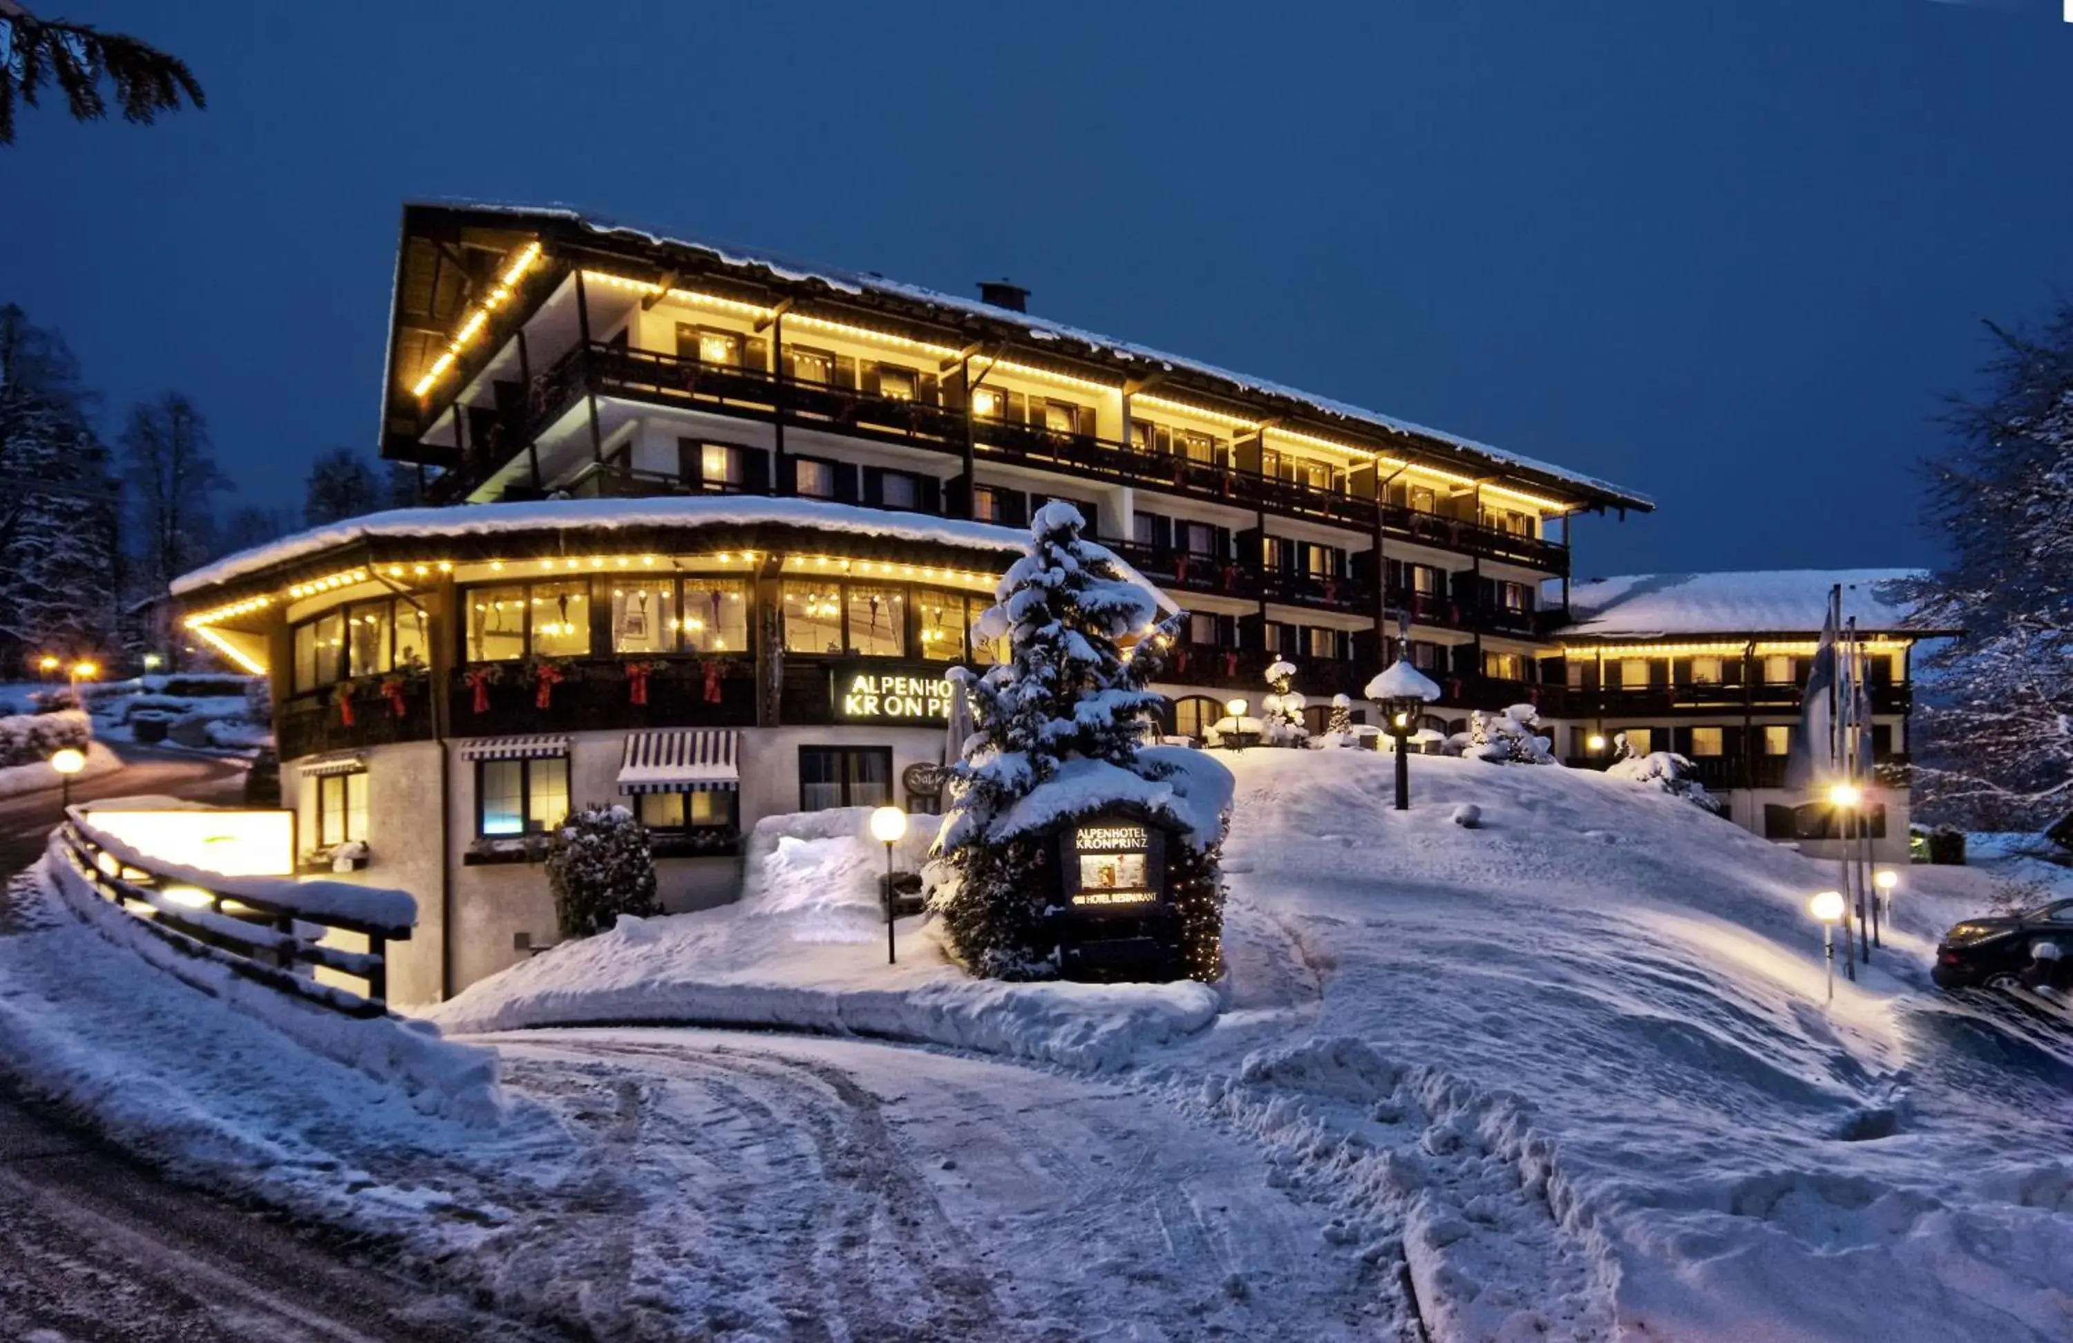
<instances>
[{"instance_id":1,"label":"deep blue evening sky above the hotel","mask_svg":"<svg viewBox=\"0 0 2073 1343\"><path fill-rule=\"evenodd\" d=\"M2073 288L2056 0L33 8L178 52L209 110L23 110L0 301L110 435L195 396L267 506L373 448L406 197L1007 274L1652 493L1578 524L1580 576L1934 558L1915 462L1980 319Z\"/></svg>"}]
</instances>

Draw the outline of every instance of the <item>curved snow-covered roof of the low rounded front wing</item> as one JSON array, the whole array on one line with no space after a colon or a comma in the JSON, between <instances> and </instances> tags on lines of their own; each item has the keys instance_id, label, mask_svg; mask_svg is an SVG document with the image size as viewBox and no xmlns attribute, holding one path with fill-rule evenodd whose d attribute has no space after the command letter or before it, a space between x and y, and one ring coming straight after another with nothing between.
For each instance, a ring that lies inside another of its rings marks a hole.
<instances>
[{"instance_id":1,"label":"curved snow-covered roof of the low rounded front wing","mask_svg":"<svg viewBox=\"0 0 2073 1343\"><path fill-rule=\"evenodd\" d=\"M172 580L172 593L174 597L184 597L207 587L232 582L249 574L336 551L375 537L493 537L500 533L545 533L556 528L614 531L715 524L790 524L829 533L898 537L902 541L922 541L1001 553L1020 553L1028 545L1028 531L1018 526L993 526L991 522L933 518L927 514L898 514L856 504L829 504L823 499L684 495L659 499L456 504L452 508L392 508L363 518L346 518L342 522L313 526L309 531L294 533L292 537L282 537L280 541L267 541L265 545L224 555L214 564L180 574ZM1119 558L1115 564L1134 582L1151 589L1153 595L1159 597L1161 609L1180 609L1163 591L1159 591L1157 584L1130 568L1130 564Z\"/></svg>"}]
</instances>

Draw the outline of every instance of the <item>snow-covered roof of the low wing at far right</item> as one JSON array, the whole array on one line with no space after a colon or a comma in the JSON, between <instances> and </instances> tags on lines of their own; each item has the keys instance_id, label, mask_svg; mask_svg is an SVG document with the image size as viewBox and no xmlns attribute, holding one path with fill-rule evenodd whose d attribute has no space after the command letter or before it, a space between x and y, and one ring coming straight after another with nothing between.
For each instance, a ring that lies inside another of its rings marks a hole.
<instances>
[{"instance_id":1,"label":"snow-covered roof of the low wing at far right","mask_svg":"<svg viewBox=\"0 0 2073 1343\"><path fill-rule=\"evenodd\" d=\"M1569 587L1573 624L1563 642L1646 640L1687 634L1820 634L1828 591L1843 587L1843 620L1859 632L1897 632L1907 607L1889 584L1924 570L1756 570L1729 574L1627 574Z\"/></svg>"}]
</instances>

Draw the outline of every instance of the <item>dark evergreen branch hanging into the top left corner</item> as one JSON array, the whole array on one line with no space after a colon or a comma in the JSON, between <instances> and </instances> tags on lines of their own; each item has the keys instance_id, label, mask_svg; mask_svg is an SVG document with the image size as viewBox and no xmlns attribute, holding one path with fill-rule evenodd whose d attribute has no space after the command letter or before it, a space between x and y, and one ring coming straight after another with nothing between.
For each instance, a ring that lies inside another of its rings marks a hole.
<instances>
[{"instance_id":1,"label":"dark evergreen branch hanging into the top left corner","mask_svg":"<svg viewBox=\"0 0 2073 1343\"><path fill-rule=\"evenodd\" d=\"M0 145L15 143L15 99L37 106L46 83L64 93L73 120L100 120L108 114L102 79L114 85L131 122L178 112L182 93L195 110L207 106L178 56L85 23L37 19L21 0L0 0Z\"/></svg>"}]
</instances>

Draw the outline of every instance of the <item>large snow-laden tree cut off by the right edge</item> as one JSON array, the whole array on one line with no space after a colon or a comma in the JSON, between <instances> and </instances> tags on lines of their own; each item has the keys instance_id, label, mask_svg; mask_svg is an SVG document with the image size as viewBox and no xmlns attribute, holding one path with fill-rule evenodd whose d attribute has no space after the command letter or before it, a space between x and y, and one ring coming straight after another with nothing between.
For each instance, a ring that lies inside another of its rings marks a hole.
<instances>
[{"instance_id":1,"label":"large snow-laden tree cut off by the right edge","mask_svg":"<svg viewBox=\"0 0 2073 1343\"><path fill-rule=\"evenodd\" d=\"M2073 305L2038 336L1992 327L1992 394L1953 412L1926 520L1949 564L1901 584L1930 651L1913 781L1924 817L2040 827L2073 808Z\"/></svg>"}]
</instances>

